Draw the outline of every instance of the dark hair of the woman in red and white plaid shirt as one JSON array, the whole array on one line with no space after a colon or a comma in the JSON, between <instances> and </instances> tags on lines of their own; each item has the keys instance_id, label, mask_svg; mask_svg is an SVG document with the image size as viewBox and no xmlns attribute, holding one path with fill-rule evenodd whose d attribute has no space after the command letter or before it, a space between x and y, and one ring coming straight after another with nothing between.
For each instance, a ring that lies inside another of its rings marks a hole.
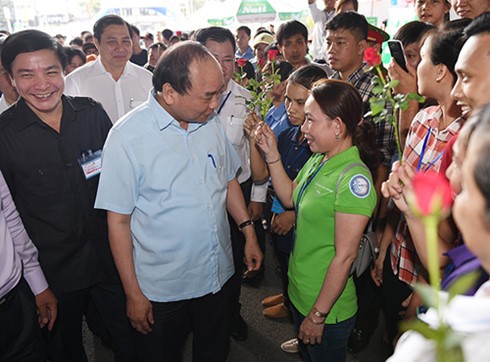
<instances>
[{"instance_id":1,"label":"dark hair of the woman in red and white plaid shirt","mask_svg":"<svg viewBox=\"0 0 490 362\"><path fill-rule=\"evenodd\" d=\"M432 64L444 64L453 75L454 83L458 78L454 66L463 47L463 30L470 22L470 19L449 21L429 38Z\"/></svg>"}]
</instances>

